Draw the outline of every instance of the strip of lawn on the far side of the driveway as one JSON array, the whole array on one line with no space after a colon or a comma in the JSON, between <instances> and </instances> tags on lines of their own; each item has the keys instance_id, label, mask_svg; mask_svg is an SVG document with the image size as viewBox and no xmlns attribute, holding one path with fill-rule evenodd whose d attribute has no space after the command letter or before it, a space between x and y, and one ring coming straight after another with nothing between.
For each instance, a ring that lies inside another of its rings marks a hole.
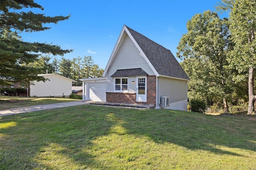
<instances>
[{"instance_id":1,"label":"strip of lawn on the far side of the driveway","mask_svg":"<svg viewBox=\"0 0 256 170\"><path fill-rule=\"evenodd\" d=\"M0 96L0 110L10 109L15 107L25 107L33 105L44 105L52 103L61 103L69 101L78 101L77 99L66 98L50 98L50 97L12 97Z\"/></svg>"}]
</instances>

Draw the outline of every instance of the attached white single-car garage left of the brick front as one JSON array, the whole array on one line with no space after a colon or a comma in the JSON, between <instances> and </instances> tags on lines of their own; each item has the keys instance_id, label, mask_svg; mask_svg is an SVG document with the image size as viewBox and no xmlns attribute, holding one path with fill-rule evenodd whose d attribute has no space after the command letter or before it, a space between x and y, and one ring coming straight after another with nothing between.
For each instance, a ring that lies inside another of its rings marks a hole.
<instances>
[{"instance_id":1,"label":"attached white single-car garage left of the brick front","mask_svg":"<svg viewBox=\"0 0 256 170\"><path fill-rule=\"evenodd\" d=\"M83 82L83 100L106 102L106 78L80 80Z\"/></svg>"}]
</instances>

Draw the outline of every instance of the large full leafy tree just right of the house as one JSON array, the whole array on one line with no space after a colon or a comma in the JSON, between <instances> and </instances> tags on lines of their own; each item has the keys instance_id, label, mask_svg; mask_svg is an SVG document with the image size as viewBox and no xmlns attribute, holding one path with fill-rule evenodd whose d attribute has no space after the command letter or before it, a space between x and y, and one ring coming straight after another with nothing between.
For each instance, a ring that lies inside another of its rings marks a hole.
<instances>
[{"instance_id":1,"label":"large full leafy tree just right of the house","mask_svg":"<svg viewBox=\"0 0 256 170\"><path fill-rule=\"evenodd\" d=\"M227 98L230 97L232 89L232 70L226 67L228 51L232 49L228 23L226 18L222 20L216 12L209 10L196 14L188 21L188 33L182 36L177 47L179 58L190 59L189 61L195 59L194 62L201 63L196 68L192 65L191 69L197 69L198 75L190 79L195 78L196 81L206 84L208 89L204 93L208 97L210 94L222 97L226 112Z\"/></svg>"}]
</instances>

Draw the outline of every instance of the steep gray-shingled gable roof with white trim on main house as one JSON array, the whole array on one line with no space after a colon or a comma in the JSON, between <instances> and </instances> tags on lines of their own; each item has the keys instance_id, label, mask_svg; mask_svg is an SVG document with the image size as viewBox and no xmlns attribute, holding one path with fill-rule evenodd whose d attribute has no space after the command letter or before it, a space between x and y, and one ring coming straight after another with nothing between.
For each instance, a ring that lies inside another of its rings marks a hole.
<instances>
[{"instance_id":1,"label":"steep gray-shingled gable roof with white trim on main house","mask_svg":"<svg viewBox=\"0 0 256 170\"><path fill-rule=\"evenodd\" d=\"M148 62L150 67L152 67L152 70L156 73L157 76L166 76L176 79L190 80L186 72L180 66L180 63L178 63L178 61L169 49L166 49L162 45L159 45L158 43L132 30L126 25L124 25L122 29L122 32L118 38L118 42L116 43L110 60L108 61L108 65L106 66L103 76L105 76L106 71L116 53L116 50L118 49L118 47L120 47L120 43L122 43L122 37L124 36L124 32L126 32L128 36L130 36L131 40L141 52L141 55L146 59L146 61Z\"/></svg>"}]
</instances>

